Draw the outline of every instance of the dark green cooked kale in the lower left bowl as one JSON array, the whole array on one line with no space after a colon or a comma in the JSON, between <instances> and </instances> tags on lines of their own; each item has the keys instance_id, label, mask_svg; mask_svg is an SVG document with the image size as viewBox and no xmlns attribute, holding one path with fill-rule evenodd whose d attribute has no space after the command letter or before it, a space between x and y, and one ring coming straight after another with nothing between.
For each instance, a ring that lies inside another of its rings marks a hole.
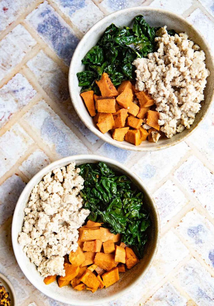
<instances>
[{"instance_id":1,"label":"dark green cooked kale in the lower left bowl","mask_svg":"<svg viewBox=\"0 0 214 306\"><path fill-rule=\"evenodd\" d=\"M91 211L88 218L104 222L112 233L121 233L122 241L131 245L141 258L151 225L144 208L144 194L125 175L115 174L104 162L78 166L84 178L80 194L84 208Z\"/></svg>"}]
</instances>

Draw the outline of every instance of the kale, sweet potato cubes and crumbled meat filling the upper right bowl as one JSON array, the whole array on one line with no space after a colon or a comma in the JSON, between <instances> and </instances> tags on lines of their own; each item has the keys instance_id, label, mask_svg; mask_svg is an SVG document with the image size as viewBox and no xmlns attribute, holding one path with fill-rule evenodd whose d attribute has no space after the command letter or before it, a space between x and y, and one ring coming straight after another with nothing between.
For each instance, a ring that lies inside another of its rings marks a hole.
<instances>
[{"instance_id":1,"label":"kale, sweet potato cubes and crumbled meat filling the upper right bowl","mask_svg":"<svg viewBox=\"0 0 214 306\"><path fill-rule=\"evenodd\" d=\"M109 25L82 63L80 95L95 125L134 145L189 129L210 74L187 34L150 27L141 15L132 28Z\"/></svg>"}]
</instances>

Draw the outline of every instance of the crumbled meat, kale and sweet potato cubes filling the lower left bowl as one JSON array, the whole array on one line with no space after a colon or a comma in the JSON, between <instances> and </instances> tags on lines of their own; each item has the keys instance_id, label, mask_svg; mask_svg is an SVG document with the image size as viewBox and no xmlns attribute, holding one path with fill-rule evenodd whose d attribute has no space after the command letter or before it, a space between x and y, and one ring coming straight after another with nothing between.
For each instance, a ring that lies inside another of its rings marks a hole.
<instances>
[{"instance_id":1,"label":"crumbled meat, kale and sweet potato cubes filling the lower left bowl","mask_svg":"<svg viewBox=\"0 0 214 306\"><path fill-rule=\"evenodd\" d=\"M46 285L94 293L144 254L152 226L144 194L105 163L57 168L30 195L18 241Z\"/></svg>"}]
</instances>

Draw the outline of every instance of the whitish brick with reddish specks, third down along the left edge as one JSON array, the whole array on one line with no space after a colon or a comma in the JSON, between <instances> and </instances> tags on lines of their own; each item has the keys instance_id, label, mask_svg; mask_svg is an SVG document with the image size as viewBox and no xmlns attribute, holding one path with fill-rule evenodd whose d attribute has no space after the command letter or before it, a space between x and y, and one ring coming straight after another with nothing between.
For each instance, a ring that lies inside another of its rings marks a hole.
<instances>
[{"instance_id":1,"label":"whitish brick with reddish specks, third down along the left edge","mask_svg":"<svg viewBox=\"0 0 214 306\"><path fill-rule=\"evenodd\" d=\"M12 114L22 109L36 95L28 80L20 73L0 89L0 128Z\"/></svg>"}]
</instances>

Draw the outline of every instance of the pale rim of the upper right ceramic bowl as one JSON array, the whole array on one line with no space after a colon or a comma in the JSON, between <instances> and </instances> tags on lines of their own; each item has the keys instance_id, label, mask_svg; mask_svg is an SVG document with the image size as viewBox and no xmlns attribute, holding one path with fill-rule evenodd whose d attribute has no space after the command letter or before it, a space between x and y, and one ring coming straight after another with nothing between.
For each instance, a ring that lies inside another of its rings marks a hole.
<instances>
[{"instance_id":1,"label":"pale rim of the upper right ceramic bowl","mask_svg":"<svg viewBox=\"0 0 214 306\"><path fill-rule=\"evenodd\" d=\"M184 136L181 136L179 139L173 141L172 143L169 143L169 144L162 144L162 145L157 145L155 147L140 147L140 146L134 146L133 147L130 147L129 145L127 144L123 144L122 142L119 142L119 141L116 141L112 138L107 138L105 137L105 134L102 134L97 128L96 126L94 125L91 125L90 123L87 123L84 121L84 118L82 116L82 114L79 112L78 110L78 107L77 107L77 104L74 102L75 101L75 95L73 95L73 91L72 91L72 68L73 66L76 64L75 62L75 55L77 54L78 50L81 48L81 44L83 41L87 41L88 38L90 38L90 35L91 33L94 31L95 28L98 28L99 25L101 25L103 23L103 21L107 21L108 19L111 19L111 17L115 17L117 15L119 15L120 13L128 13L130 11L134 11L136 9L139 9L140 12L142 12L143 10L147 10L147 11L153 11L153 12L162 12L162 13L166 13L166 14L169 14L169 15L172 15L178 19L180 19L181 21L184 21L186 22L189 26L191 26L193 28L193 30L195 32L197 32L197 34L204 40L206 46L207 46L207 49L209 51L209 56L210 56L210 60L212 62L212 65L214 66L214 57L212 55L212 51L211 51L211 48L209 46L209 44L207 43L206 39L204 38L204 36L202 35L202 33L193 25L191 24L191 22L189 22L186 18L176 14L176 13L173 13L169 10L166 10L166 9L159 9L159 8L155 8L155 7L152 7L152 6L133 6L133 7L129 7L129 8L125 8L125 9L121 9L121 10L117 10L115 12L112 12L110 13L109 15L103 17L102 19L100 19L99 21L97 21L85 34L84 36L80 39L79 43L77 44L77 47L72 55L72 58L71 58L71 62L70 62L70 66L69 66L69 73L68 73L68 87L69 87L69 93L70 93L70 98L71 98L71 101L72 101L72 104L73 104L73 107L77 113L77 115L79 116L80 120L84 123L84 125L91 131L93 132L96 136L98 136L100 139L102 139L103 141L115 146L115 147L119 147L121 149L125 149L125 150L129 150L129 151L137 151L137 152L152 152L152 151L159 151L159 150L163 150L163 149L166 149L166 148L169 148L169 147L173 147L174 145L176 144L179 144L180 142L182 142L183 140L186 140L187 137L189 137L193 131L195 131L195 129L198 128L198 126L202 123L202 121L204 120L204 118L206 117L206 115L208 114L209 112L209 109L211 107L211 104L212 104L212 100L214 98L214 84L213 84L213 88L212 88L212 95L211 95L211 98L210 98L210 103L207 107L207 109L205 110L204 114L202 114L199 122L194 126L192 127L191 129L188 130L187 134L184 135ZM139 12L139 13L140 13ZM181 133L180 133L181 134Z\"/></svg>"}]
</instances>

